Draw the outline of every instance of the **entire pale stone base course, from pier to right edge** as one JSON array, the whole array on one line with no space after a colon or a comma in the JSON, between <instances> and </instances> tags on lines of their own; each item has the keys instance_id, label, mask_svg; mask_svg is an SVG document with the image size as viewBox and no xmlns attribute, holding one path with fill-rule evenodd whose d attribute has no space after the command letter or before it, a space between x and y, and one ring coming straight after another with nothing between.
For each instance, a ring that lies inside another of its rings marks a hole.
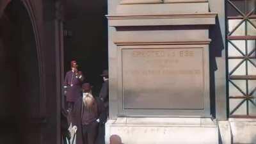
<instances>
[{"instance_id":1,"label":"entire pale stone base course, from pier to right edge","mask_svg":"<svg viewBox=\"0 0 256 144\"><path fill-rule=\"evenodd\" d=\"M106 124L106 143L115 134L127 144L255 144L255 125L253 118L117 118Z\"/></svg>"}]
</instances>

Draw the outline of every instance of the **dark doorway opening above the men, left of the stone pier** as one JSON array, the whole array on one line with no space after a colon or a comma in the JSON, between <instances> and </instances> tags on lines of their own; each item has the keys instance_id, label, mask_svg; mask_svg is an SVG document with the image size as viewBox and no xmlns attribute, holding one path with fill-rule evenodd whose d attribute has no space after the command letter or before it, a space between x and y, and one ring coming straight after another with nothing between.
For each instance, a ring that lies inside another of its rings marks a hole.
<instances>
[{"instance_id":1,"label":"dark doorway opening above the men, left of the stone pier","mask_svg":"<svg viewBox=\"0 0 256 144\"><path fill-rule=\"evenodd\" d=\"M64 68L77 60L86 81L99 95L102 70L108 69L108 1L67 1L64 22Z\"/></svg>"}]
</instances>

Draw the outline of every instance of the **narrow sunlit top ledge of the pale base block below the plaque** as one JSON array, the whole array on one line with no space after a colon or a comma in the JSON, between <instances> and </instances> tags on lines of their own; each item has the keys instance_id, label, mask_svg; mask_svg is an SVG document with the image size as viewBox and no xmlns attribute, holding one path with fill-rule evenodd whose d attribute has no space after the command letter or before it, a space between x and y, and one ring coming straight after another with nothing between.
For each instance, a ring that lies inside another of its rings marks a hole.
<instances>
[{"instance_id":1,"label":"narrow sunlit top ledge of the pale base block below the plaque","mask_svg":"<svg viewBox=\"0 0 256 144\"><path fill-rule=\"evenodd\" d=\"M154 117L118 117L110 120L113 125L147 125L147 126L186 126L186 127L216 127L216 121L211 118L154 118Z\"/></svg>"}]
</instances>

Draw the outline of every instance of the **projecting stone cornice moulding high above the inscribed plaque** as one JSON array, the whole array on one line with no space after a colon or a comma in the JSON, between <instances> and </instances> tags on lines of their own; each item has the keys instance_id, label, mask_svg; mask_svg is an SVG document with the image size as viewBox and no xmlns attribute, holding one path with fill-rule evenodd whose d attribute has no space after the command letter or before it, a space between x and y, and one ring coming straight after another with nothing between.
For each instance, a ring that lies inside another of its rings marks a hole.
<instances>
[{"instance_id":1,"label":"projecting stone cornice moulding high above the inscribed plaque","mask_svg":"<svg viewBox=\"0 0 256 144\"><path fill-rule=\"evenodd\" d=\"M213 25L216 13L183 13L163 15L106 15L109 26L186 26Z\"/></svg>"}]
</instances>

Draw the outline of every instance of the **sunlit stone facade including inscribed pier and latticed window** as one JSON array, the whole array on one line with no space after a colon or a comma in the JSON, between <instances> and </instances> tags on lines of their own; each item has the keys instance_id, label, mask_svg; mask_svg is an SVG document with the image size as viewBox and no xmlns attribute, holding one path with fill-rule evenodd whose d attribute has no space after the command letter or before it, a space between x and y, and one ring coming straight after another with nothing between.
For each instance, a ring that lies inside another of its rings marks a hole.
<instances>
[{"instance_id":1,"label":"sunlit stone facade including inscribed pier and latticed window","mask_svg":"<svg viewBox=\"0 0 256 144\"><path fill-rule=\"evenodd\" d=\"M123 0L108 8L106 141L256 143L255 1Z\"/></svg>"}]
</instances>

